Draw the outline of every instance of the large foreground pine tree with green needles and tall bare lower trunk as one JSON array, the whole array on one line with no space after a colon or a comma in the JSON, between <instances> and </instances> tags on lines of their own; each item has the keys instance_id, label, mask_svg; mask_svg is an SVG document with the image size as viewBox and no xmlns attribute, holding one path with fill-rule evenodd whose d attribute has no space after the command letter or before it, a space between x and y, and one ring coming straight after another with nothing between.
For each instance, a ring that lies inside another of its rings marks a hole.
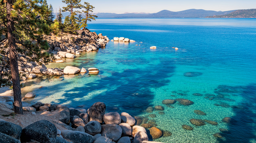
<instances>
[{"instance_id":1,"label":"large foreground pine tree with green needles and tall bare lower trunk","mask_svg":"<svg viewBox=\"0 0 256 143\"><path fill-rule=\"evenodd\" d=\"M0 0L0 8L0 87L12 84L14 112L23 114L18 61L50 60L49 45L42 35L48 35L50 28L38 16L47 8L41 0Z\"/></svg>"}]
</instances>

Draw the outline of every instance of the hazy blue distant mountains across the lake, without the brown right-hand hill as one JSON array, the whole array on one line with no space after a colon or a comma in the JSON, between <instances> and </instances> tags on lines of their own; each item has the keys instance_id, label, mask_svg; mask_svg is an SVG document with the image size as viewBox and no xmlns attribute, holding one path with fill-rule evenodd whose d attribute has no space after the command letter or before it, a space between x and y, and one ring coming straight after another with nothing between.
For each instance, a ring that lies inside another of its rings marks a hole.
<instances>
[{"instance_id":1,"label":"hazy blue distant mountains across the lake, without the brown right-hand hill","mask_svg":"<svg viewBox=\"0 0 256 143\"><path fill-rule=\"evenodd\" d=\"M225 15L230 11L212 11L203 9L188 9L178 12L162 10L157 13L95 13L98 18L204 18L206 16Z\"/></svg>"}]
</instances>

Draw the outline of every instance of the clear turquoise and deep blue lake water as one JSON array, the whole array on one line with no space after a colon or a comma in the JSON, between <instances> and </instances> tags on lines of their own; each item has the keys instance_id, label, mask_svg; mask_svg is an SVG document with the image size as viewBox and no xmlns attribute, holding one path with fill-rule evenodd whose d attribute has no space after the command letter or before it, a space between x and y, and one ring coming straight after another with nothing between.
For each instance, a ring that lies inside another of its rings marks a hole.
<instances>
[{"instance_id":1,"label":"clear turquoise and deep blue lake water","mask_svg":"<svg viewBox=\"0 0 256 143\"><path fill-rule=\"evenodd\" d=\"M107 112L155 119L158 128L172 133L154 141L256 142L256 19L97 19L88 25L91 31L110 39L125 37L136 42L110 41L98 52L83 53L64 63L50 63L48 68L96 67L100 73L30 80L23 88L24 95L31 90L36 93L30 102L69 107L85 104L85 108L104 102ZM150 46L157 49L150 50ZM185 72L202 75L187 77ZM207 94L214 96L208 98ZM177 98L194 104L175 103L174 108L162 104L164 99ZM165 114L156 110L143 112L155 105L163 106ZM194 110L201 110L206 116L197 115ZM149 114L157 117L148 117ZM222 122L224 117L232 117L232 123ZM213 120L218 125L195 126L189 121L192 118ZM194 130L182 129L183 124ZM229 130L229 134L221 133L219 128ZM224 138L214 137L215 133Z\"/></svg>"}]
</instances>

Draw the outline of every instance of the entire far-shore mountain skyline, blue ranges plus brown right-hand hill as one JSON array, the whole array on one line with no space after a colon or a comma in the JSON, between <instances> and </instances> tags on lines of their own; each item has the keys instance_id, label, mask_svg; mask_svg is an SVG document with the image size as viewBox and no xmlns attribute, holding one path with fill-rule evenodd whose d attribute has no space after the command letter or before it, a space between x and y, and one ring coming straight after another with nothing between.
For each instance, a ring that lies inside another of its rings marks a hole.
<instances>
[{"instance_id":1,"label":"entire far-shore mountain skyline, blue ranges plus brown right-hand hill","mask_svg":"<svg viewBox=\"0 0 256 143\"><path fill-rule=\"evenodd\" d=\"M56 13L55 13L56 14ZM178 12L161 10L157 13L94 13L98 18L256 18L256 9L213 11L203 9L188 9ZM70 12L63 12L63 18ZM84 16L83 16L84 17Z\"/></svg>"}]
</instances>

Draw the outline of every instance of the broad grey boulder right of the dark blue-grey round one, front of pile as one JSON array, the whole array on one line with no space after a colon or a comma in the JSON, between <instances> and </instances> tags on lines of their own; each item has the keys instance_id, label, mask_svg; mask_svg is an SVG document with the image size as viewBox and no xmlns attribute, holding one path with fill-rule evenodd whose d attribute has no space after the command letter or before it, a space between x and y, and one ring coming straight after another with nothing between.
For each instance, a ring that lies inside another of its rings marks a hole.
<instances>
[{"instance_id":1,"label":"broad grey boulder right of the dark blue-grey round one, front of pile","mask_svg":"<svg viewBox=\"0 0 256 143\"><path fill-rule=\"evenodd\" d=\"M113 139L113 141L117 141L122 135L122 129L116 124L105 124L101 125L100 134Z\"/></svg>"}]
</instances>

